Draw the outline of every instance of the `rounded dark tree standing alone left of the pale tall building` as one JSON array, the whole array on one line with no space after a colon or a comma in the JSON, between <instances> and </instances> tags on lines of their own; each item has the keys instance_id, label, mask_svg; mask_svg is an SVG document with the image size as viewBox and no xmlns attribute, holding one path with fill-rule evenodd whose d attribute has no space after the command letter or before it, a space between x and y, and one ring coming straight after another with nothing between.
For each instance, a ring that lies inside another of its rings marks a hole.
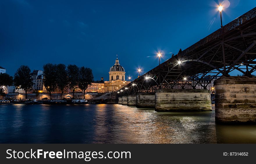
<instances>
[{"instance_id":1,"label":"rounded dark tree standing alone left of the pale tall building","mask_svg":"<svg viewBox=\"0 0 256 164\"><path fill-rule=\"evenodd\" d=\"M33 84L34 83L29 66L20 66L14 74L14 85L24 89L26 92L26 99L27 91L32 88Z\"/></svg>"}]
</instances>

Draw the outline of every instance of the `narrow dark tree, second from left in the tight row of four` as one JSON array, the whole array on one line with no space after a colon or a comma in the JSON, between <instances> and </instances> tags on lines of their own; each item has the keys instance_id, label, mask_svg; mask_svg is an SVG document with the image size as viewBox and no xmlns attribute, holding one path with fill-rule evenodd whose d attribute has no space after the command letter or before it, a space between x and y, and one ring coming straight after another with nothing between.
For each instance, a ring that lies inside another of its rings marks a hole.
<instances>
[{"instance_id":1,"label":"narrow dark tree, second from left in the tight row of four","mask_svg":"<svg viewBox=\"0 0 256 164\"><path fill-rule=\"evenodd\" d=\"M67 81L67 70L65 64L57 65L57 87L61 90L61 99L63 98L64 89L68 84Z\"/></svg>"}]
</instances>

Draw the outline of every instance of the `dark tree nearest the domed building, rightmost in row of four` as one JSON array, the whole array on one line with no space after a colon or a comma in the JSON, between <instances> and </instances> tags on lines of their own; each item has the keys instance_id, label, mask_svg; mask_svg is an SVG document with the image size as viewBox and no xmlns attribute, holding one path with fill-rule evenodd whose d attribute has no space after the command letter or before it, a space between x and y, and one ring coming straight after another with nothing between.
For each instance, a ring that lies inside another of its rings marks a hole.
<instances>
[{"instance_id":1,"label":"dark tree nearest the domed building, rightmost in row of four","mask_svg":"<svg viewBox=\"0 0 256 164\"><path fill-rule=\"evenodd\" d=\"M81 67L79 69L78 87L83 90L83 98L85 99L85 90L91 86L93 82L93 70L90 68Z\"/></svg>"}]
</instances>

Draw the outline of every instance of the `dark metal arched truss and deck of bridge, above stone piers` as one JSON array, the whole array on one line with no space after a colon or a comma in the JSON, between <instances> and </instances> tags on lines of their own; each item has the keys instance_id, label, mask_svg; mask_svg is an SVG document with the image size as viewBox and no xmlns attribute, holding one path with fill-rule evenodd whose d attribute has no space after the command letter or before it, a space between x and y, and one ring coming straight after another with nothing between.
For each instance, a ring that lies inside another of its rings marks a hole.
<instances>
[{"instance_id":1,"label":"dark metal arched truss and deck of bridge, above stone piers","mask_svg":"<svg viewBox=\"0 0 256 164\"><path fill-rule=\"evenodd\" d=\"M119 96L180 85L206 89L218 75L237 70L251 77L256 70L256 8L201 39L180 54L118 90Z\"/></svg>"}]
</instances>

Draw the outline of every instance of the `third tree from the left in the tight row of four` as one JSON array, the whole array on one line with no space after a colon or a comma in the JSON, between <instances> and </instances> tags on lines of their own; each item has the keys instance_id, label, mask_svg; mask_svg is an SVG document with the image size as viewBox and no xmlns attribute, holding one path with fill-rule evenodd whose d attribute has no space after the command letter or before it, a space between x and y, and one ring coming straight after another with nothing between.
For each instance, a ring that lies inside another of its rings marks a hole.
<instances>
[{"instance_id":1,"label":"third tree from the left in the tight row of four","mask_svg":"<svg viewBox=\"0 0 256 164\"><path fill-rule=\"evenodd\" d=\"M75 96L75 90L77 89L79 79L79 68L76 65L69 64L67 66L67 79L68 86L73 91L73 98Z\"/></svg>"}]
</instances>

